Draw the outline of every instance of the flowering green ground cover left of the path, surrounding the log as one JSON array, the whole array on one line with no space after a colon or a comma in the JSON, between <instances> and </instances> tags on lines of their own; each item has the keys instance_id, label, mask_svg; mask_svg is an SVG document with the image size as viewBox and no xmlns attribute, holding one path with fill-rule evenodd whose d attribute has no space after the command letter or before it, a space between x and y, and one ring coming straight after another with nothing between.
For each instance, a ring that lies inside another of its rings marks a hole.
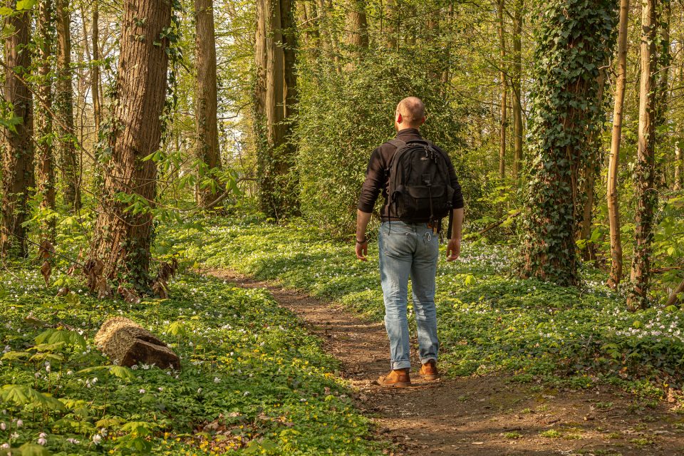
<instances>
[{"instance_id":1,"label":"flowering green ground cover left of the path, surrounding the log","mask_svg":"<svg viewBox=\"0 0 684 456\"><path fill-rule=\"evenodd\" d=\"M334 375L336 361L269 294L192 274L170 287L171 299L139 304L79 289L58 297L38 271L5 270L0 445L25 456L378 450ZM28 315L61 327L36 327ZM164 338L182 370L111 366L93 336L116 315Z\"/></svg>"}]
</instances>

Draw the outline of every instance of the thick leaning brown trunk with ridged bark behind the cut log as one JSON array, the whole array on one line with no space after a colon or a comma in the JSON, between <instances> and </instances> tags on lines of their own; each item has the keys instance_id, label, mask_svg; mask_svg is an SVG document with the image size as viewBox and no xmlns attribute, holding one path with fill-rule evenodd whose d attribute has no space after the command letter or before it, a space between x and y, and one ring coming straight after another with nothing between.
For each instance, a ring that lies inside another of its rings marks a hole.
<instances>
[{"instance_id":1,"label":"thick leaning brown trunk with ridged bark behind the cut log","mask_svg":"<svg viewBox=\"0 0 684 456\"><path fill-rule=\"evenodd\" d=\"M169 45L160 33L170 22L171 4L166 0L125 3L115 128L109 138L112 157L105 163L103 196L90 244L90 258L105 264L103 276L139 288L149 286L152 212L148 207L140 212L126 208L140 201L154 207L157 166L142 159L160 146ZM130 200L122 201L121 195Z\"/></svg>"}]
</instances>

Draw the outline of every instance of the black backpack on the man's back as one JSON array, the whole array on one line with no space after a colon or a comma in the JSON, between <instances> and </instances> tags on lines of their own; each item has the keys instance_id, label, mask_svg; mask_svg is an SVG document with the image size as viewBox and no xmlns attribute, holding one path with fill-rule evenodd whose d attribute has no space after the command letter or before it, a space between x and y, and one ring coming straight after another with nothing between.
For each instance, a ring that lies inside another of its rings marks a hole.
<instances>
[{"instance_id":1,"label":"black backpack on the man's back","mask_svg":"<svg viewBox=\"0 0 684 456\"><path fill-rule=\"evenodd\" d=\"M391 140L397 147L388 166L388 204L406 222L435 222L449 215L454 189L449 157L425 140Z\"/></svg>"}]
</instances>

